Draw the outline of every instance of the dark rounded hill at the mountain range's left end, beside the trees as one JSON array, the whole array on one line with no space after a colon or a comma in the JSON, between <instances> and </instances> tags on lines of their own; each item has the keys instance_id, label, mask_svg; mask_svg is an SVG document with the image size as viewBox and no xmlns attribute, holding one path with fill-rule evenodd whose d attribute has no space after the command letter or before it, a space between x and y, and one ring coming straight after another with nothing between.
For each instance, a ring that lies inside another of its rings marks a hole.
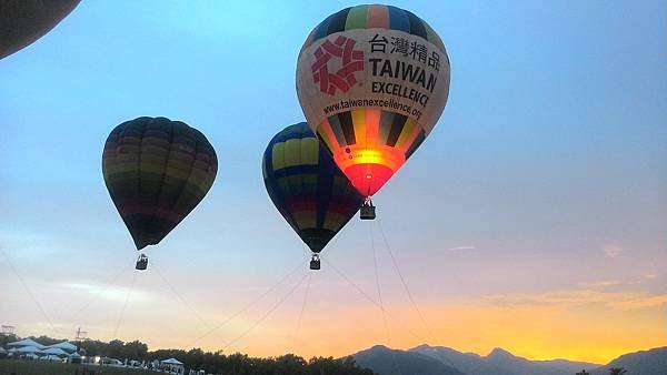
<instances>
[{"instance_id":1,"label":"dark rounded hill at the mountain range's left end, beside the trees","mask_svg":"<svg viewBox=\"0 0 667 375\"><path fill-rule=\"evenodd\" d=\"M466 375L426 355L381 345L361 351L352 357L358 366L370 368L379 375Z\"/></svg>"}]
</instances>

